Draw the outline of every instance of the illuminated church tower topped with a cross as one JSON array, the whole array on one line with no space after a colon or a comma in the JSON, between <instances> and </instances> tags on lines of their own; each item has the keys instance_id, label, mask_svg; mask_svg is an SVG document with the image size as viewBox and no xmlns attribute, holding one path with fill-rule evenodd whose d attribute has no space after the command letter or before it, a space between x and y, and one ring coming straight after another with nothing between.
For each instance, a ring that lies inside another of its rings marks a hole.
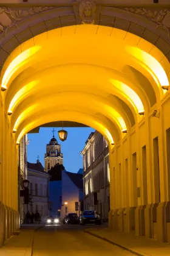
<instances>
[{"instance_id":1,"label":"illuminated church tower topped with a cross","mask_svg":"<svg viewBox=\"0 0 170 256\"><path fill-rule=\"evenodd\" d=\"M49 144L46 146L46 154L44 157L45 162L45 171L49 171L56 163L63 165L63 154L61 154L61 145L58 144L58 141L54 135L55 130L53 129L53 137L50 140Z\"/></svg>"}]
</instances>

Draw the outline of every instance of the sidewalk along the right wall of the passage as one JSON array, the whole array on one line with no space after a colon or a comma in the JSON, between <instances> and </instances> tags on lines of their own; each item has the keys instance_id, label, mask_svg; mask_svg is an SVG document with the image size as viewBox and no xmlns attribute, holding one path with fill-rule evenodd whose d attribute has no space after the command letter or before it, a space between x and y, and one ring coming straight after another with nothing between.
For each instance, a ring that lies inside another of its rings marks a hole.
<instances>
[{"instance_id":1,"label":"sidewalk along the right wall of the passage","mask_svg":"<svg viewBox=\"0 0 170 256\"><path fill-rule=\"evenodd\" d=\"M144 236L135 236L131 233L118 232L103 227L86 229L85 232L126 249L135 255L170 256L170 244L158 243Z\"/></svg>"}]
</instances>

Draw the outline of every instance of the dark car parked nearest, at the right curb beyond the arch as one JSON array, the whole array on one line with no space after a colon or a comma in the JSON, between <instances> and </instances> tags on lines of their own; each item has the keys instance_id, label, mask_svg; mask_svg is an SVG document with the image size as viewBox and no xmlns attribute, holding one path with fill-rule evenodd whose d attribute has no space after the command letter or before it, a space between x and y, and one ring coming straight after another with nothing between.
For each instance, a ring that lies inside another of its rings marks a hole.
<instances>
[{"instance_id":1,"label":"dark car parked nearest, at the right curb beyond the arch","mask_svg":"<svg viewBox=\"0 0 170 256\"><path fill-rule=\"evenodd\" d=\"M80 225L85 224L101 224L100 215L94 210L84 210L80 215Z\"/></svg>"}]
</instances>

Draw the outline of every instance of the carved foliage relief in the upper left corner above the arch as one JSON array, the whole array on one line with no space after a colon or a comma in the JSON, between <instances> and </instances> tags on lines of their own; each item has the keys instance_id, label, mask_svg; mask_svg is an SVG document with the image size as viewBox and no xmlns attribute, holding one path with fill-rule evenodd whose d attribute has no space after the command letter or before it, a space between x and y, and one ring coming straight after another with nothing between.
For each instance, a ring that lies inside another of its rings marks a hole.
<instances>
[{"instance_id":1,"label":"carved foliage relief in the upper left corner above the arch","mask_svg":"<svg viewBox=\"0 0 170 256\"><path fill-rule=\"evenodd\" d=\"M10 27L17 27L17 22L24 20L26 16L35 15L36 13L44 12L54 7L32 7L30 9L10 9L9 7L0 7L0 34L7 33Z\"/></svg>"}]
</instances>

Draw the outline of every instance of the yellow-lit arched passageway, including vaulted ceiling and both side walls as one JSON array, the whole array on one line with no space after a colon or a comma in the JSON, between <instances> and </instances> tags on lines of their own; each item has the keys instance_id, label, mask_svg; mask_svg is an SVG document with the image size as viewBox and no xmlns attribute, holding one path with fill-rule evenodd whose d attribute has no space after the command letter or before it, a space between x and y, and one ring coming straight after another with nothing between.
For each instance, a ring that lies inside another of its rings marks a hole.
<instances>
[{"instance_id":1,"label":"yellow-lit arched passageway, including vaulted ceiling and both side walls","mask_svg":"<svg viewBox=\"0 0 170 256\"><path fill-rule=\"evenodd\" d=\"M107 26L63 27L30 38L5 61L0 105L5 238L19 225L21 138L41 124L66 120L92 126L107 140L110 227L165 240L170 65L148 41L123 35Z\"/></svg>"}]
</instances>

